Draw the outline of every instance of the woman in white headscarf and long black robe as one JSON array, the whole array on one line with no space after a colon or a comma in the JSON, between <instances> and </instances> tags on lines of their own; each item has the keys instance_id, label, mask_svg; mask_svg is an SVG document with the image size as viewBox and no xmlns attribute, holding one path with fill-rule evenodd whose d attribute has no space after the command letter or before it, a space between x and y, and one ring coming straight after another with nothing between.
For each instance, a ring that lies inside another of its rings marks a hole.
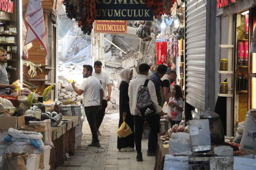
<instances>
[{"instance_id":1,"label":"woman in white headscarf and long black robe","mask_svg":"<svg viewBox=\"0 0 256 170\"><path fill-rule=\"evenodd\" d=\"M117 148L121 152L125 151L134 151L134 123L133 123L133 116L130 112L129 107L129 96L128 96L128 87L129 82L132 80L132 69L123 69L120 71L120 77L122 78L120 85L119 85L119 126L123 123L123 116L125 117L125 123L129 125L129 127L132 130L132 134L125 137L125 138L119 138L117 136Z\"/></svg>"}]
</instances>

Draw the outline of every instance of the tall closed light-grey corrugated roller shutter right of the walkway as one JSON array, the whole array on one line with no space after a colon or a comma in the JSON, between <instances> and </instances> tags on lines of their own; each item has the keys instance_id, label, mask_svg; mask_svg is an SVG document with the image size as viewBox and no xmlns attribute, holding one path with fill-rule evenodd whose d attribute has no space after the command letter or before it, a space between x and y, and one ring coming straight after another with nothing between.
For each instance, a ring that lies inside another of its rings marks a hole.
<instances>
[{"instance_id":1,"label":"tall closed light-grey corrugated roller shutter right of the walkway","mask_svg":"<svg viewBox=\"0 0 256 170\"><path fill-rule=\"evenodd\" d=\"M186 0L186 102L204 111L206 65L206 1Z\"/></svg>"}]
</instances>

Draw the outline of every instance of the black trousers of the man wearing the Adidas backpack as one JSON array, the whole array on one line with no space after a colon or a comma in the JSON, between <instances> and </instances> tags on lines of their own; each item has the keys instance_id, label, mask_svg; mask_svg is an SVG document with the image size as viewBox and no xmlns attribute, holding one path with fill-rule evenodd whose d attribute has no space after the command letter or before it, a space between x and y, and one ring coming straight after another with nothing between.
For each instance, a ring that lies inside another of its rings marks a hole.
<instances>
[{"instance_id":1,"label":"black trousers of the man wearing the Adidas backpack","mask_svg":"<svg viewBox=\"0 0 256 170\"><path fill-rule=\"evenodd\" d=\"M154 145L157 146L157 134L159 133L159 121L158 115L153 115L150 118L147 118L147 123L149 124L153 136ZM137 153L141 152L141 138L143 133L143 123L144 119L140 119L138 115L134 116L135 120L135 132L134 132L134 139L135 139L135 146Z\"/></svg>"}]
</instances>

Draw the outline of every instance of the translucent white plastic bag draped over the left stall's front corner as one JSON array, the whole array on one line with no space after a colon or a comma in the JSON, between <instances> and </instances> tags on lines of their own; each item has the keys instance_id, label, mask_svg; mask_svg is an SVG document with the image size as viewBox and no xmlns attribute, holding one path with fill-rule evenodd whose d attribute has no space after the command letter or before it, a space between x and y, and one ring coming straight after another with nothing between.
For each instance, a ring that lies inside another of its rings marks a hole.
<instances>
[{"instance_id":1,"label":"translucent white plastic bag draped over the left stall's front corner","mask_svg":"<svg viewBox=\"0 0 256 170\"><path fill-rule=\"evenodd\" d=\"M44 121L29 121L29 124L40 124L45 126L45 145L50 145L53 147L52 143L52 129L51 129L51 121L50 119L46 119Z\"/></svg>"}]
</instances>

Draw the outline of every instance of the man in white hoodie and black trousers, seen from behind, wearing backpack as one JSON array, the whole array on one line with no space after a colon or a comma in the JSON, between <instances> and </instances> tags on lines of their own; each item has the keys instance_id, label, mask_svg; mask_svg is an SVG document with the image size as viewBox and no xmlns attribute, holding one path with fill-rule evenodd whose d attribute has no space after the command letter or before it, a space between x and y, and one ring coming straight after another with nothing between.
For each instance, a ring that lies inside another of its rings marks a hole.
<instances>
[{"instance_id":1,"label":"man in white hoodie and black trousers, seen from behind, wearing backpack","mask_svg":"<svg viewBox=\"0 0 256 170\"><path fill-rule=\"evenodd\" d=\"M141 119L138 115L137 110L137 99L138 99L138 93L140 91L140 86L144 85L144 82L147 79L150 79L148 76L148 70L150 69L150 66L143 63L139 65L139 75L137 78L135 78L133 81L130 82L129 88L128 88L128 95L129 95L129 104L130 104L130 110L131 114L135 117L135 132L134 132L134 138L135 138L135 146L137 151L137 157L136 160L138 162L141 162L142 159L142 152L141 152L141 137L143 133L143 123L144 119ZM164 113L162 111L162 107L158 105L157 102L157 94L155 92L155 85L150 80L148 81L148 90L150 93L150 99L154 105L156 114L147 118L147 123L149 124L152 134L153 134L153 141L155 146L157 146L157 133L159 132L159 122L157 114L160 116L167 115L167 113Z\"/></svg>"}]
</instances>

